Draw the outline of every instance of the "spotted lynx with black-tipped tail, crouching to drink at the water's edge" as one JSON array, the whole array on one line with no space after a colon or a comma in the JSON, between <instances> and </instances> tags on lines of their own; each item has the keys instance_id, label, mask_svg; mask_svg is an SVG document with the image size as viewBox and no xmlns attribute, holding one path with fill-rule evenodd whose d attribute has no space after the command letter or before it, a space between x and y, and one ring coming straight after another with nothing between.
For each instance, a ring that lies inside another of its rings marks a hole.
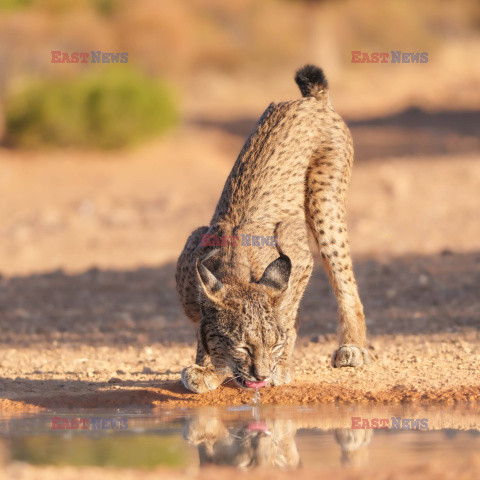
<instances>
[{"instance_id":1,"label":"spotted lynx with black-tipped tail, crouching to drink at the water's edge","mask_svg":"<svg viewBox=\"0 0 480 480\"><path fill-rule=\"evenodd\" d=\"M233 373L242 387L292 380L300 299L314 238L339 310L335 367L370 362L350 258L345 197L350 132L333 109L323 71L295 77L303 98L270 104L245 142L209 226L195 230L177 263L177 290L197 325L185 387L202 393Z\"/></svg>"}]
</instances>

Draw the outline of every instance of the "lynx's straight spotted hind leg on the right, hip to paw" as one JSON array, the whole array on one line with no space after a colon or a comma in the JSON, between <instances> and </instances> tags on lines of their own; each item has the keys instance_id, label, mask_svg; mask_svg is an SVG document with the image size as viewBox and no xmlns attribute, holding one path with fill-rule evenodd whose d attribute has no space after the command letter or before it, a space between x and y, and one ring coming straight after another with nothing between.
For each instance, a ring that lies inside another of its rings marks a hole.
<instances>
[{"instance_id":1,"label":"lynx's straight spotted hind leg on the right, hip to paw","mask_svg":"<svg viewBox=\"0 0 480 480\"><path fill-rule=\"evenodd\" d=\"M346 127L344 126L346 129ZM345 197L350 179L353 148L348 132L343 147L327 147L309 168L308 219L317 241L339 312L339 348L335 367L370 363L366 350L363 305L353 273L346 227Z\"/></svg>"}]
</instances>

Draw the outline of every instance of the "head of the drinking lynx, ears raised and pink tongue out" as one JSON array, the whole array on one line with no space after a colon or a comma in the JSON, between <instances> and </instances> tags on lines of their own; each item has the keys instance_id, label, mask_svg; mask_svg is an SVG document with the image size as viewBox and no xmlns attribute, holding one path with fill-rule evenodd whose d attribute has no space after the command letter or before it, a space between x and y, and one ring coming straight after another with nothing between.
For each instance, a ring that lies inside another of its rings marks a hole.
<instances>
[{"instance_id":1,"label":"head of the drinking lynx, ears raised and pink tongue out","mask_svg":"<svg viewBox=\"0 0 480 480\"><path fill-rule=\"evenodd\" d=\"M205 260L197 261L200 341L217 370L230 369L243 387L265 386L287 340L279 305L288 288L290 259L280 255L250 283L220 281Z\"/></svg>"}]
</instances>

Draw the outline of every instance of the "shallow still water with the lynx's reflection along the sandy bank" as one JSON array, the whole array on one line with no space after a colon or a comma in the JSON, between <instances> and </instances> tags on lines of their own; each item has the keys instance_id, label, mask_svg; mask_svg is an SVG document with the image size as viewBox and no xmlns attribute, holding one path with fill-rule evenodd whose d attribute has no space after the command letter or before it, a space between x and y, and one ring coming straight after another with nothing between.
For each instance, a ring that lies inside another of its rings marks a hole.
<instances>
[{"instance_id":1,"label":"shallow still water with the lynx's reflection along the sandy bank","mask_svg":"<svg viewBox=\"0 0 480 480\"><path fill-rule=\"evenodd\" d=\"M352 428L382 422L388 428ZM155 412L57 411L3 416L0 447L9 462L34 465L394 467L474 456L480 451L480 416L474 407L259 404Z\"/></svg>"}]
</instances>

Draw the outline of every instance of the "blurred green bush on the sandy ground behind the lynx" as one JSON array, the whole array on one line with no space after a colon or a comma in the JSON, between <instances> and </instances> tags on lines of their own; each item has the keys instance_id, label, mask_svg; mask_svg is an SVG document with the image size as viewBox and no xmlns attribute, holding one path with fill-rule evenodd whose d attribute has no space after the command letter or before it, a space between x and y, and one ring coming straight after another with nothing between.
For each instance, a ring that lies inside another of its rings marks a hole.
<instances>
[{"instance_id":1,"label":"blurred green bush on the sandy ground behind the lynx","mask_svg":"<svg viewBox=\"0 0 480 480\"><path fill-rule=\"evenodd\" d=\"M6 142L27 148L121 148L177 120L170 89L133 71L30 84L7 100Z\"/></svg>"}]
</instances>

